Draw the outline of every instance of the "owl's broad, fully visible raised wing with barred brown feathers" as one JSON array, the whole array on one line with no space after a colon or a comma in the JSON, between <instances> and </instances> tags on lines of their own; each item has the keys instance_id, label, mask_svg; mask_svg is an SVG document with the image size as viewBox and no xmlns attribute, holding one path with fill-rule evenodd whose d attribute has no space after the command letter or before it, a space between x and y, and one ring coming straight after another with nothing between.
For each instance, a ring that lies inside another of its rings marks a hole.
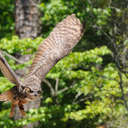
<instances>
[{"instance_id":1,"label":"owl's broad, fully visible raised wing with barred brown feathers","mask_svg":"<svg viewBox=\"0 0 128 128\"><path fill-rule=\"evenodd\" d=\"M80 20L72 14L58 23L50 35L39 45L26 79L37 76L44 79L49 70L79 42L82 32ZM28 80L29 81L29 80Z\"/></svg>"}]
</instances>

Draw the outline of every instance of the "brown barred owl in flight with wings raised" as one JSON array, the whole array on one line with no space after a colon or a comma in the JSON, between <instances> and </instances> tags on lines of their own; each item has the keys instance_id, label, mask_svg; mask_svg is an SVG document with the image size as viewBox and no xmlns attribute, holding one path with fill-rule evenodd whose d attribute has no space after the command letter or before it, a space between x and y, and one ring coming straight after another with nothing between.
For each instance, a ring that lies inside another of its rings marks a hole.
<instances>
[{"instance_id":1,"label":"brown barred owl in flight with wings raised","mask_svg":"<svg viewBox=\"0 0 128 128\"><path fill-rule=\"evenodd\" d=\"M10 117L19 106L25 115L23 104L40 96L41 82L49 70L79 42L82 37L82 24L75 14L67 16L58 23L50 35L39 45L29 73L21 81L0 53L0 69L5 77L15 84L13 88L0 95L0 101L12 103Z\"/></svg>"}]
</instances>

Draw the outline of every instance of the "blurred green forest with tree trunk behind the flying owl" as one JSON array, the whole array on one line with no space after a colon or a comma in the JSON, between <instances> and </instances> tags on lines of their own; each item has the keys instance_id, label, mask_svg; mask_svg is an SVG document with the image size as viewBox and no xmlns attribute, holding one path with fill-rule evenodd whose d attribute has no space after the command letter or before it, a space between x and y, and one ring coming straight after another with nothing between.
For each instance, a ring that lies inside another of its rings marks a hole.
<instances>
[{"instance_id":1,"label":"blurred green forest with tree trunk behind the flying owl","mask_svg":"<svg viewBox=\"0 0 128 128\"><path fill-rule=\"evenodd\" d=\"M25 118L12 120L10 103L0 102L0 127L128 127L127 0L1 0L0 49L24 76L38 45L72 13L84 24L84 35L47 74L40 106L31 104ZM0 93L12 86L0 74Z\"/></svg>"}]
</instances>

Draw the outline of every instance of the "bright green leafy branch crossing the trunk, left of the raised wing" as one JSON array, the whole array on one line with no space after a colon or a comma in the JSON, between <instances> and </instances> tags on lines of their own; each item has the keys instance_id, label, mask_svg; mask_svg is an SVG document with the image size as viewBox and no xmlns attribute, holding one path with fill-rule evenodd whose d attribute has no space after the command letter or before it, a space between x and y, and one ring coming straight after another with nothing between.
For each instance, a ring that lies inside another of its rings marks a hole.
<instances>
[{"instance_id":1,"label":"bright green leafy branch crossing the trunk, left of the raised wing","mask_svg":"<svg viewBox=\"0 0 128 128\"><path fill-rule=\"evenodd\" d=\"M2 38L0 40L0 49L7 51L10 54L21 53L32 54L37 50L37 46L42 42L42 38L22 39L20 40L17 36L13 36L12 39Z\"/></svg>"}]
</instances>

